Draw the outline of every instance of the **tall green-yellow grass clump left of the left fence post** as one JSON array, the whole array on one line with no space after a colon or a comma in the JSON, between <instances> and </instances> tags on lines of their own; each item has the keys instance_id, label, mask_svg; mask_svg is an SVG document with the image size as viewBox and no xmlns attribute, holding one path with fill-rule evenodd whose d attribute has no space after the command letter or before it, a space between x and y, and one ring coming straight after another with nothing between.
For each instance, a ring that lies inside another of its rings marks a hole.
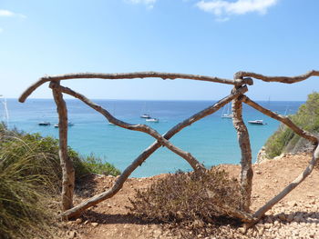
<instances>
[{"instance_id":1,"label":"tall green-yellow grass clump left of the left fence post","mask_svg":"<svg viewBox=\"0 0 319 239\"><path fill-rule=\"evenodd\" d=\"M59 180L55 156L39 152L35 141L8 133L0 146L1 238L47 238L54 218L47 205Z\"/></svg>"}]
</instances>

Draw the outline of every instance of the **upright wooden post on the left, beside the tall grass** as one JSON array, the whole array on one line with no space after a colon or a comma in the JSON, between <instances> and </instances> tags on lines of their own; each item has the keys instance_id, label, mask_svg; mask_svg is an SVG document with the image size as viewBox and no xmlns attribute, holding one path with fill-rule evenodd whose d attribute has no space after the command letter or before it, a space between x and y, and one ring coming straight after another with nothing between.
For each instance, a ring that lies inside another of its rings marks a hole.
<instances>
[{"instance_id":1,"label":"upright wooden post on the left, beside the tall grass","mask_svg":"<svg viewBox=\"0 0 319 239\"><path fill-rule=\"evenodd\" d=\"M60 85L59 82L50 85ZM75 170L72 160L67 156L67 105L63 95L56 88L52 89L53 97L57 104L58 135L60 164L62 168L62 207L64 211L73 207L73 193L75 185Z\"/></svg>"}]
</instances>

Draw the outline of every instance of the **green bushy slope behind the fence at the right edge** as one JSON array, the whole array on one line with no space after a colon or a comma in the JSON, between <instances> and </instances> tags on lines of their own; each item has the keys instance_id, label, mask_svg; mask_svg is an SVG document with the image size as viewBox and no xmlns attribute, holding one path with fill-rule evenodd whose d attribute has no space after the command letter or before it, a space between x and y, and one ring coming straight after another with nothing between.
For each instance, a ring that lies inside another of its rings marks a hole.
<instances>
[{"instance_id":1,"label":"green bushy slope behind the fence at the right edge","mask_svg":"<svg viewBox=\"0 0 319 239\"><path fill-rule=\"evenodd\" d=\"M319 134L319 93L308 95L304 105L301 105L295 115L288 116L300 128ZM268 158L273 158L283 153L309 152L313 149L311 143L295 134L284 124L267 140L265 153Z\"/></svg>"}]
</instances>

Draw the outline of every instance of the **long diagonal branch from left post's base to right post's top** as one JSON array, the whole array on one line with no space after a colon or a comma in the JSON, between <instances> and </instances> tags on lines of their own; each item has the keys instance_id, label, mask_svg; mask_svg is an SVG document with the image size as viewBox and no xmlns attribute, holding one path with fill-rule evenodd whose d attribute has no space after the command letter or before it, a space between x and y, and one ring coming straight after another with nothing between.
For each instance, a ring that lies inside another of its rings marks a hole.
<instances>
[{"instance_id":1,"label":"long diagonal branch from left post's base to right post's top","mask_svg":"<svg viewBox=\"0 0 319 239\"><path fill-rule=\"evenodd\" d=\"M219 102L217 102L214 105L211 105L210 107L202 110L201 112L190 116L190 118L184 120L180 124L176 124L174 127L170 129L166 134L163 135L164 138L170 139L173 135L177 134L182 130L183 128L189 126L190 124L193 124L202 118L213 114L214 112L218 111L222 106L227 105L229 102L231 102L234 98L244 94L247 92L247 86L242 86L241 88L233 91L232 95L229 95L223 99L221 99ZM158 141L155 141L153 144L150 144L147 149L145 149L139 156L133 161L132 164L130 164L123 173L118 177L115 184L110 188L108 191L95 195L91 198L89 198L87 201L77 204L75 207L67 210L66 212L62 213L61 216L65 218L74 218L79 216L83 211L85 211L87 208L98 204L113 195L117 194L118 191L123 187L123 184L125 181L129 178L129 175L143 162L149 157L150 154L153 154L158 148L160 148L160 143Z\"/></svg>"}]
</instances>

